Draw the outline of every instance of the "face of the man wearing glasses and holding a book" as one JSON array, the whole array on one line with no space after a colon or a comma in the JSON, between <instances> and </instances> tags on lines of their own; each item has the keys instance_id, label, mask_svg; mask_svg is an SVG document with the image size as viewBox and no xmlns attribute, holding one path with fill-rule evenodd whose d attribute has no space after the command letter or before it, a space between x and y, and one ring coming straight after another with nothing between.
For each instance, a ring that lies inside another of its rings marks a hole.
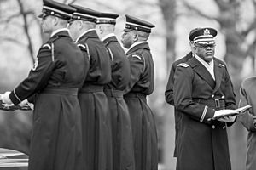
<instances>
[{"instance_id":1,"label":"face of the man wearing glasses and holding a book","mask_svg":"<svg viewBox=\"0 0 256 170\"><path fill-rule=\"evenodd\" d=\"M204 59L209 63L215 53L215 43L214 44L199 44L195 43L195 54L197 54L201 59Z\"/></svg>"}]
</instances>

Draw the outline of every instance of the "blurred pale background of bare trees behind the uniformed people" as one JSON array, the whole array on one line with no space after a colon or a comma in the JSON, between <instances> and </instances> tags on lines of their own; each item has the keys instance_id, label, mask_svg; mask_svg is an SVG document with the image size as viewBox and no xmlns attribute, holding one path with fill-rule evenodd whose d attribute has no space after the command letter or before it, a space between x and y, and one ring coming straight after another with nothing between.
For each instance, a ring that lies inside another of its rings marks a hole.
<instances>
[{"instance_id":1,"label":"blurred pale background of bare trees behind the uniformed people","mask_svg":"<svg viewBox=\"0 0 256 170\"><path fill-rule=\"evenodd\" d=\"M159 136L160 169L174 170L173 107L165 101L172 62L189 53L189 31L210 26L218 30L216 54L228 65L239 101L244 78L255 72L256 0L58 0L102 12L120 14L116 34L121 36L125 14L148 20L156 27L148 42L154 57L155 88L148 103L154 111ZM0 93L15 88L47 40L40 28L38 0L0 0ZM240 122L229 128L233 170L245 169L247 131ZM2 137L3 138L3 137ZM1 140L1 136L0 136Z\"/></svg>"}]
</instances>

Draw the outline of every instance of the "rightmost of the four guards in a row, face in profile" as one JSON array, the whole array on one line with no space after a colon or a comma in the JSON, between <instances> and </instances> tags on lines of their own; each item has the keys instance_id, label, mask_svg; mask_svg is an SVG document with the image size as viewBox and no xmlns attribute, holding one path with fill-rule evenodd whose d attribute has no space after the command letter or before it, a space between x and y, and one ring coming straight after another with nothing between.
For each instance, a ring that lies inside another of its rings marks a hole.
<instances>
[{"instance_id":1,"label":"rightmost of the four guards in a row, face in profile","mask_svg":"<svg viewBox=\"0 0 256 170\"><path fill-rule=\"evenodd\" d=\"M125 102L131 117L136 170L156 170L157 133L147 96L154 90L154 62L148 46L151 23L126 14L122 43L130 62L131 79L125 88Z\"/></svg>"}]
</instances>

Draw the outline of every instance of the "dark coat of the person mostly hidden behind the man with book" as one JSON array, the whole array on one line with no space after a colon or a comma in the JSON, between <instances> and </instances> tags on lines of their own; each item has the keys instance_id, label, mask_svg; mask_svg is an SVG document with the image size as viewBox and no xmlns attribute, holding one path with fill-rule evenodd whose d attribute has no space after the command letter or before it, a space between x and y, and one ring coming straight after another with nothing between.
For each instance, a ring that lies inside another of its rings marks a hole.
<instances>
[{"instance_id":1,"label":"dark coat of the person mostly hidden behind the man with book","mask_svg":"<svg viewBox=\"0 0 256 170\"><path fill-rule=\"evenodd\" d=\"M189 54L185 55L183 58L178 59L172 63L169 79L166 85L166 102L170 105L174 105L174 99L173 99L173 85L174 85L174 73L177 68L177 65L180 63L187 62L189 59L192 58L192 52L189 52ZM175 120L175 149L174 149L174 157L177 157L177 141L179 140L179 122L181 120L181 115L178 114L177 111L174 112L174 120Z\"/></svg>"}]
</instances>

